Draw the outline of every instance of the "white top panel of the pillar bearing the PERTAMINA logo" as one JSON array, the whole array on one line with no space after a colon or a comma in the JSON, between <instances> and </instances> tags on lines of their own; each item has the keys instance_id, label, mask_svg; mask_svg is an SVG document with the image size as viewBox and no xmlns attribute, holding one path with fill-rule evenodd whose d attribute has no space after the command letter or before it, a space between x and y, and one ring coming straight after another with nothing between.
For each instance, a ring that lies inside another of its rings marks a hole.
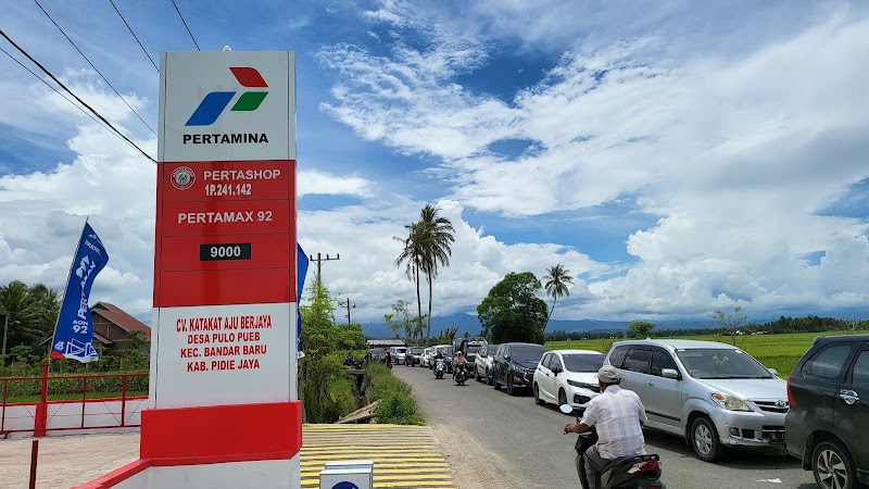
<instances>
[{"instance_id":1,"label":"white top panel of the pillar bearing the PERTAMINA logo","mask_svg":"<svg viewBox=\"0 0 869 489\"><path fill-rule=\"evenodd\" d=\"M295 160L294 65L293 52L163 53L160 161Z\"/></svg>"}]
</instances>

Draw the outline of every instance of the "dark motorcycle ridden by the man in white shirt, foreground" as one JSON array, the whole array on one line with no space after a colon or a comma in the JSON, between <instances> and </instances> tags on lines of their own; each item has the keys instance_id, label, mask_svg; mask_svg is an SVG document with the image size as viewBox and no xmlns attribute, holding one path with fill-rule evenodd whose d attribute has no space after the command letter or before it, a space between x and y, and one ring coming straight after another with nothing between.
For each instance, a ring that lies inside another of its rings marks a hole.
<instances>
[{"instance_id":1,"label":"dark motorcycle ridden by the man in white shirt, foreground","mask_svg":"<svg viewBox=\"0 0 869 489\"><path fill-rule=\"evenodd\" d=\"M571 414L570 404L562 404L558 409L564 414ZM580 423L577 416L577 423ZM597 442L597 432L594 428L579 435L575 449L579 454L579 480L583 489L588 489L589 480L585 477L585 460L582 454ZM603 489L667 489L660 481L660 457L657 454L622 456L610 461L601 471L601 486Z\"/></svg>"}]
</instances>

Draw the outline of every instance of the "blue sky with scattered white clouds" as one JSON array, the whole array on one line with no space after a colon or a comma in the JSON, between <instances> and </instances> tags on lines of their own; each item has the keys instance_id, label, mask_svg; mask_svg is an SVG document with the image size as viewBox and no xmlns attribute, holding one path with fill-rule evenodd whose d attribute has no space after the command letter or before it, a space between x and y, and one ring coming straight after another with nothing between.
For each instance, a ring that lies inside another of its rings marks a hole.
<instances>
[{"instance_id":1,"label":"blue sky with scattered white clouds","mask_svg":"<svg viewBox=\"0 0 869 489\"><path fill-rule=\"evenodd\" d=\"M104 0L40 0L151 126L159 73ZM869 305L869 4L176 0L202 50L297 53L299 239L354 318L413 285L392 239L452 220L434 314L509 272L575 275L559 319ZM159 63L172 2L115 0ZM0 28L154 155L156 139L35 2ZM37 71L12 46L0 47ZM0 281L62 287L86 216L95 286L147 318L153 163L0 53Z\"/></svg>"}]
</instances>

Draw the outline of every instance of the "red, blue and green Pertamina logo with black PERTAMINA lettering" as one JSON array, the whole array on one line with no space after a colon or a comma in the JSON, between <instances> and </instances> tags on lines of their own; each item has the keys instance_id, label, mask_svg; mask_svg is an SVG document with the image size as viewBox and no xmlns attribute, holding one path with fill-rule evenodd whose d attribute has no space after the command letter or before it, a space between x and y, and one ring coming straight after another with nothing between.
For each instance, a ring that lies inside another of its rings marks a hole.
<instances>
[{"instance_id":1,"label":"red, blue and green Pertamina logo with black PERTAMINA lettering","mask_svg":"<svg viewBox=\"0 0 869 489\"><path fill-rule=\"evenodd\" d=\"M245 88L259 88L260 90L243 91L232 104L230 112L253 112L260 108L268 95L268 84L256 68L250 66L229 67L232 76ZM185 126L210 126L217 122L221 115L236 99L237 91L212 91L202 99L197 110L187 121ZM185 134L184 143L192 145L235 145L251 142L268 142L265 133L237 133L237 134Z\"/></svg>"}]
</instances>

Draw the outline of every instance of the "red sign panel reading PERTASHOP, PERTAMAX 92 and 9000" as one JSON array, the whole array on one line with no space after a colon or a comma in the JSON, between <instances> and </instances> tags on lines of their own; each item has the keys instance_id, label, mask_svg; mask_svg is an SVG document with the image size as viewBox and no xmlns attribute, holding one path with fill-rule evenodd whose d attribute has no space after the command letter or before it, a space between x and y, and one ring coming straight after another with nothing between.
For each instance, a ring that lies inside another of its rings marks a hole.
<instances>
[{"instance_id":1,"label":"red sign panel reading PERTASHOP, PERTAMAX 92 and 9000","mask_svg":"<svg viewBox=\"0 0 869 489\"><path fill-rule=\"evenodd\" d=\"M295 162L158 166L154 306L295 301Z\"/></svg>"}]
</instances>

